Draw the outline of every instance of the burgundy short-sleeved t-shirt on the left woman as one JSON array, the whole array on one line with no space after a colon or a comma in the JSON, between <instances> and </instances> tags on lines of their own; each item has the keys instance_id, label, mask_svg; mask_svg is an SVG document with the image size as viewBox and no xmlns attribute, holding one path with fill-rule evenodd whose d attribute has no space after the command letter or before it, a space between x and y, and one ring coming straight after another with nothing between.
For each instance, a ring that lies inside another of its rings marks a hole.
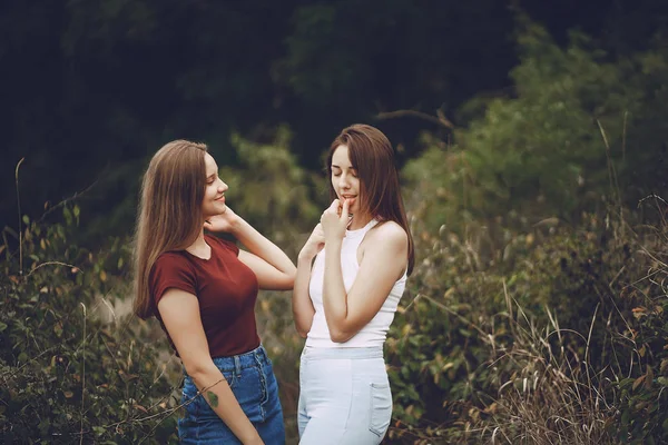
<instances>
[{"instance_id":1,"label":"burgundy short-sleeved t-shirt on the left woman","mask_svg":"<svg viewBox=\"0 0 668 445\"><path fill-rule=\"evenodd\" d=\"M238 259L239 249L234 243L212 235L205 235L205 239L212 247L209 259L186 250L167 251L158 257L149 275L154 313L169 337L158 301L169 288L185 290L199 300L199 316L212 357L253 350L259 346L255 323L257 277Z\"/></svg>"}]
</instances>

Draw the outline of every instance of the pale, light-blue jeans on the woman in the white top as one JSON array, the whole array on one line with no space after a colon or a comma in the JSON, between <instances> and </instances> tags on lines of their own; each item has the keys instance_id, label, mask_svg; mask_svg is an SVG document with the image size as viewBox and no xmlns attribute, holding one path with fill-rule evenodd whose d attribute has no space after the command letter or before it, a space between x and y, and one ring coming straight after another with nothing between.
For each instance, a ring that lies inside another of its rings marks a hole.
<instances>
[{"instance_id":1,"label":"pale, light-blue jeans on the woman in the white top","mask_svg":"<svg viewBox=\"0 0 668 445\"><path fill-rule=\"evenodd\" d=\"M304 348L301 445L376 445L391 418L392 393L381 347Z\"/></svg>"}]
</instances>

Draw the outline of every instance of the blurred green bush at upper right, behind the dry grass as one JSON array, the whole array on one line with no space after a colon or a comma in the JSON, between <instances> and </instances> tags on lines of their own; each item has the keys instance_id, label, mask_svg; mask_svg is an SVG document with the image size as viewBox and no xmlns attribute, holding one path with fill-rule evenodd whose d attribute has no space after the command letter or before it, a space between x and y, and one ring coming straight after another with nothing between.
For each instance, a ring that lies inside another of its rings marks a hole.
<instances>
[{"instance_id":1,"label":"blurred green bush at upper right, behind the dry grass","mask_svg":"<svg viewBox=\"0 0 668 445\"><path fill-rule=\"evenodd\" d=\"M561 49L539 27L519 39L515 95L464 107L471 123L455 146L431 148L406 167L428 199L419 209L431 227L514 210L532 221L572 218L603 201L635 205L666 190L668 140L664 48L611 60L581 34ZM428 174L425 174L428 172ZM620 196L621 190L625 190Z\"/></svg>"}]
</instances>

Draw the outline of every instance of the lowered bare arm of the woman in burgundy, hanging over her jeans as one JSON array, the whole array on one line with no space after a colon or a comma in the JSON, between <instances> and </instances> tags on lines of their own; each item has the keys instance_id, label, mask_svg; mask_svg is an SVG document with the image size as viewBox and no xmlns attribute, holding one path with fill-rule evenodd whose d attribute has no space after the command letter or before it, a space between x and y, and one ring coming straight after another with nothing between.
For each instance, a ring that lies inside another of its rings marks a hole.
<instances>
[{"instance_id":1,"label":"lowered bare arm of the woman in burgundy, hanging over her jeans","mask_svg":"<svg viewBox=\"0 0 668 445\"><path fill-rule=\"evenodd\" d=\"M186 372L212 409L244 444L262 444L257 431L209 355L197 297L170 288L158 303L158 310Z\"/></svg>"}]
</instances>

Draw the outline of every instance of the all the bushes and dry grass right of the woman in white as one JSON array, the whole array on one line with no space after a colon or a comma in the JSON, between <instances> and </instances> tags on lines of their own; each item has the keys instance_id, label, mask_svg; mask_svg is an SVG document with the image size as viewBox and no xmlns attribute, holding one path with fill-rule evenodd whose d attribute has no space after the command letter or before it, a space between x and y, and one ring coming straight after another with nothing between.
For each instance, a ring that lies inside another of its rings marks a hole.
<instances>
[{"instance_id":1,"label":"all the bushes and dry grass right of the woman in white","mask_svg":"<svg viewBox=\"0 0 668 445\"><path fill-rule=\"evenodd\" d=\"M403 171L422 263L387 342L393 435L666 442L666 222L627 209L666 189L668 57L537 27L520 48L517 96L471 102Z\"/></svg>"}]
</instances>

